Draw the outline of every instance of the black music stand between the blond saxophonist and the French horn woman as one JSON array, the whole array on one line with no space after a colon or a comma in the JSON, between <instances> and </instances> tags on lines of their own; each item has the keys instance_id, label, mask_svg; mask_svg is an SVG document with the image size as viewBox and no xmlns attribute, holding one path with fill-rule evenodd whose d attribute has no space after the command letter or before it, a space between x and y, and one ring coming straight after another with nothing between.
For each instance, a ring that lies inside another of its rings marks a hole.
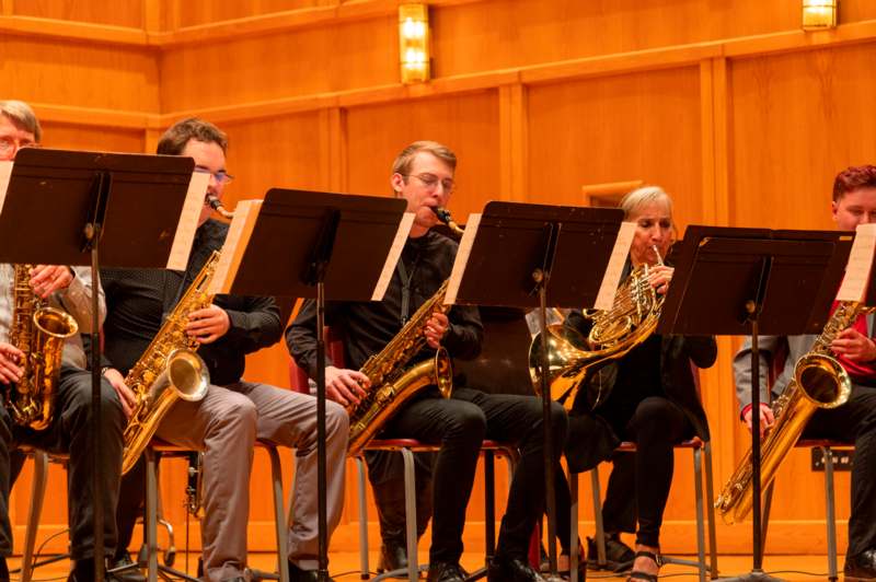
<instances>
[{"instance_id":1,"label":"black music stand between the blond saxophonist and the French horn woman","mask_svg":"<svg viewBox=\"0 0 876 582\"><path fill-rule=\"evenodd\" d=\"M546 307L586 307L596 302L614 248L623 211L609 208L488 202L474 241L463 235L453 266L449 301L463 304L538 307L542 337ZM471 251L466 246L471 244ZM454 286L458 283L458 288ZM457 291L458 289L458 291ZM542 341L541 369L548 370L548 342ZM551 578L556 575L556 499L551 389L541 374L544 426L544 478ZM487 524L492 528L493 524ZM492 529L487 533L491 537ZM575 540L573 540L575 543ZM489 556L494 548L487 548ZM487 564L488 566L488 564Z\"/></svg>"}]
</instances>

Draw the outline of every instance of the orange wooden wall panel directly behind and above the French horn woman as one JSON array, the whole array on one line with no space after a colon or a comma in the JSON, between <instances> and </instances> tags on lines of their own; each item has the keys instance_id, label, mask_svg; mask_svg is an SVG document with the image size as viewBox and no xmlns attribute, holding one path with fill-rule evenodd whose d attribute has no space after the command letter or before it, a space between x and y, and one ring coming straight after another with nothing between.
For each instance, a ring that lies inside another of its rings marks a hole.
<instances>
[{"instance_id":1,"label":"orange wooden wall panel directly behind and above the French horn woman","mask_svg":"<svg viewBox=\"0 0 876 582\"><path fill-rule=\"evenodd\" d=\"M529 199L576 205L584 184L644 179L681 225L699 220L699 100L695 68L531 88Z\"/></svg>"}]
</instances>

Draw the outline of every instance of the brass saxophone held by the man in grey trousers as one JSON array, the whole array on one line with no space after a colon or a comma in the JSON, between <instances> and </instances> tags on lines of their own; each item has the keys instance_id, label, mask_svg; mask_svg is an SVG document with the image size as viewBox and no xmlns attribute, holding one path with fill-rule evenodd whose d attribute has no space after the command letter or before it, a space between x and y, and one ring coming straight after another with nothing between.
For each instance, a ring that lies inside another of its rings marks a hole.
<instances>
[{"instance_id":1,"label":"brass saxophone held by the man in grey trousers","mask_svg":"<svg viewBox=\"0 0 876 582\"><path fill-rule=\"evenodd\" d=\"M155 433L161 419L178 398L197 401L207 394L210 374L195 353L197 340L186 334L188 314L208 307L208 292L219 252L214 251L195 276L180 302L159 329L152 342L125 376L125 384L137 401L125 428L122 474L129 472Z\"/></svg>"}]
</instances>

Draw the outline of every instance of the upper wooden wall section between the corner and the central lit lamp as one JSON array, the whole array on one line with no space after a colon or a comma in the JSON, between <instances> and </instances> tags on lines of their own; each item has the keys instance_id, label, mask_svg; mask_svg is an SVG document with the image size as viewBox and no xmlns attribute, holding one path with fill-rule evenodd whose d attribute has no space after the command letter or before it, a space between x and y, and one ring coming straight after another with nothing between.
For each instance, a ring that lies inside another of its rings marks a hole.
<instances>
[{"instance_id":1,"label":"upper wooden wall section between the corner and the central lit lamp","mask_svg":"<svg viewBox=\"0 0 876 582\"><path fill-rule=\"evenodd\" d=\"M161 62L168 112L399 82L397 18L186 45Z\"/></svg>"}]
</instances>

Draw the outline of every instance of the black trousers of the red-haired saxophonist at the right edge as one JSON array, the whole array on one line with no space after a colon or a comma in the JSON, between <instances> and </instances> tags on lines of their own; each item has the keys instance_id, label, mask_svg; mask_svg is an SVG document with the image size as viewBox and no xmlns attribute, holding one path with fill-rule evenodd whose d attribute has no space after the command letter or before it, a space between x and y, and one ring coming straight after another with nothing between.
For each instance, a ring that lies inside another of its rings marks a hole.
<instances>
[{"instance_id":1,"label":"black trousers of the red-haired saxophonist at the right edge","mask_svg":"<svg viewBox=\"0 0 876 582\"><path fill-rule=\"evenodd\" d=\"M819 409L804 436L855 445L846 556L876 549L876 388L853 384L849 401L831 410Z\"/></svg>"}]
</instances>

